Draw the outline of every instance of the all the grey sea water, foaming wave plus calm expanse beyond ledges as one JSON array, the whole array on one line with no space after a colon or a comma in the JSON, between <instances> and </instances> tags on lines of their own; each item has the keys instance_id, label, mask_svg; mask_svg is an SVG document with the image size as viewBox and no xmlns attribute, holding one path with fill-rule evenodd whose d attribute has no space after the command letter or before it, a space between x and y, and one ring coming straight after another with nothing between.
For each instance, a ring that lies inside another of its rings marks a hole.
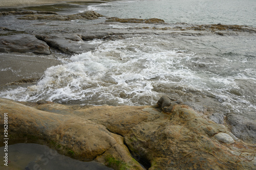
<instances>
[{"instance_id":1,"label":"all the grey sea water, foaming wave plus calm expanse beyond ledges","mask_svg":"<svg viewBox=\"0 0 256 170\"><path fill-rule=\"evenodd\" d=\"M121 1L88 6L106 16L161 18L169 25L256 26L255 1ZM111 23L110 28L135 25ZM81 42L85 43L85 42ZM29 87L4 90L17 101L154 105L162 95L255 119L255 33L139 35L92 40L95 50L62 59Z\"/></svg>"}]
</instances>

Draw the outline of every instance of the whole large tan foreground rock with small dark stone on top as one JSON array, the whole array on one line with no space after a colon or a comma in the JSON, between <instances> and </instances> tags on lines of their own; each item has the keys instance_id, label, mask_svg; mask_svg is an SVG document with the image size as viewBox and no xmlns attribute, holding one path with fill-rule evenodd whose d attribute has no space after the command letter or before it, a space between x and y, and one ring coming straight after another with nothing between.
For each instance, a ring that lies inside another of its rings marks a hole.
<instances>
[{"instance_id":1,"label":"whole large tan foreground rock with small dark stone on top","mask_svg":"<svg viewBox=\"0 0 256 170\"><path fill-rule=\"evenodd\" d=\"M46 144L114 169L256 168L255 145L167 96L157 107L23 104L0 99L13 143Z\"/></svg>"}]
</instances>

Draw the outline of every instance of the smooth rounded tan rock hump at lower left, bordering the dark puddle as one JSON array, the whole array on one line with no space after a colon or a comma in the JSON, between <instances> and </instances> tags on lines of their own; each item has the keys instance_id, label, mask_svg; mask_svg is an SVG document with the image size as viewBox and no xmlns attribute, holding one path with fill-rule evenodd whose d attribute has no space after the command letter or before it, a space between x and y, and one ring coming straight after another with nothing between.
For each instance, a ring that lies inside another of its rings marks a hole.
<instances>
[{"instance_id":1,"label":"smooth rounded tan rock hump at lower left, bordering the dark puddle","mask_svg":"<svg viewBox=\"0 0 256 170\"><path fill-rule=\"evenodd\" d=\"M117 169L120 167L143 169L132 158L127 148L125 149L125 145L118 137L119 135L109 132L103 125L96 124L89 119L74 114L68 115L67 112L62 113L61 111L61 109L66 108L72 110L74 106L69 108L65 105L49 103L29 105L39 106L45 110L51 110L54 106L55 109L52 111L57 113L0 99L1 127L4 127L4 121L2 121L4 113L8 113L9 142L13 144L20 142L46 144L60 154L78 160L91 161L95 159L108 165L106 160L110 159L112 162L114 160L114 163L122 162L118 166L116 164L111 165ZM96 157L98 158L96 159ZM121 158L125 158L125 161Z\"/></svg>"}]
</instances>

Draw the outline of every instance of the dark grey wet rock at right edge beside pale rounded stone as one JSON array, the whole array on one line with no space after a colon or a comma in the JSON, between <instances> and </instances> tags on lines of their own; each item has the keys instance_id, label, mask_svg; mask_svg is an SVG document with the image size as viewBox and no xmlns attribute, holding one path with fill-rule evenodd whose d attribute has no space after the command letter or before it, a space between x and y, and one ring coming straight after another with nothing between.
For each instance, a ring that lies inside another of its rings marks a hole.
<instances>
[{"instance_id":1,"label":"dark grey wet rock at right edge beside pale rounded stone","mask_svg":"<svg viewBox=\"0 0 256 170\"><path fill-rule=\"evenodd\" d=\"M247 117L229 114L227 122L231 125L231 132L242 140L256 143L256 122Z\"/></svg>"}]
</instances>

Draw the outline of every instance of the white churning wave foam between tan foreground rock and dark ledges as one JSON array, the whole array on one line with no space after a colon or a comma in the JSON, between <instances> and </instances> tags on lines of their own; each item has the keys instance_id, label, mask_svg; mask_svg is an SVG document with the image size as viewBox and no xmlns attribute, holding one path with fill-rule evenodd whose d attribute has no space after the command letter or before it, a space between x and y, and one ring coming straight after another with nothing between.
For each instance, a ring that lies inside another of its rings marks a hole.
<instances>
[{"instance_id":1,"label":"white churning wave foam between tan foreground rock and dark ledges","mask_svg":"<svg viewBox=\"0 0 256 170\"><path fill-rule=\"evenodd\" d=\"M90 43L97 45L94 51L48 68L36 85L2 91L0 96L33 102L44 99L93 105L153 105L163 94L181 91L179 95L203 93L238 111L255 108L252 98L245 100L246 87L242 87L246 81L248 86L254 81L251 77L255 77L255 69L230 71L230 76L220 74L215 72L222 64L218 58L199 57L174 41L159 36L93 40Z\"/></svg>"}]
</instances>

